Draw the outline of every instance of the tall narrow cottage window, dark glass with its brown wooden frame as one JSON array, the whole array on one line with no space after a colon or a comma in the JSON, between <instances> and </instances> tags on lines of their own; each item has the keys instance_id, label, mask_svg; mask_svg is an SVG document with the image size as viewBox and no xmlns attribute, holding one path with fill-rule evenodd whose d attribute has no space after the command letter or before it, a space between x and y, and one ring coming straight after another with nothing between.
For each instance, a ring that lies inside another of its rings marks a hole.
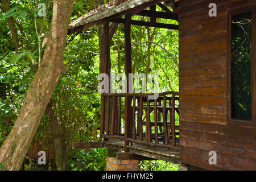
<instances>
[{"instance_id":1,"label":"tall narrow cottage window, dark glass with its brown wooden frame","mask_svg":"<svg viewBox=\"0 0 256 182\"><path fill-rule=\"evenodd\" d=\"M253 124L255 26L252 7L229 13L228 122Z\"/></svg>"}]
</instances>

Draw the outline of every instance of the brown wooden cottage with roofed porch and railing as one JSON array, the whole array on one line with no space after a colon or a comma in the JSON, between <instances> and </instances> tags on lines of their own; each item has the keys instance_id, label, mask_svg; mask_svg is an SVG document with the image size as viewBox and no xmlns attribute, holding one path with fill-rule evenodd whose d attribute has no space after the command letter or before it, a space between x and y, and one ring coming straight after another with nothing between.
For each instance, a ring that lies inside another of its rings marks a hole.
<instances>
[{"instance_id":1,"label":"brown wooden cottage with roofed porch and railing","mask_svg":"<svg viewBox=\"0 0 256 182\"><path fill-rule=\"evenodd\" d=\"M132 20L133 15L148 16L150 22ZM150 94L102 93L100 142L74 148L107 147L188 168L256 170L255 0L111 1L72 22L69 34L102 22L105 73L109 22L125 24L126 75L131 73L131 25L178 30L179 93L159 93L156 100L149 100Z\"/></svg>"}]
</instances>

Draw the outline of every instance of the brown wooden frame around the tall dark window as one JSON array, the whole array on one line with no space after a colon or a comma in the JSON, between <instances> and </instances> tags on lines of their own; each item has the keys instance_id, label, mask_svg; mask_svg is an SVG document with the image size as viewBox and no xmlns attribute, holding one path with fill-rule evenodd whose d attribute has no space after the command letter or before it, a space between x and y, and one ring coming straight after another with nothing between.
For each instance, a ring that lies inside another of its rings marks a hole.
<instances>
[{"instance_id":1,"label":"brown wooden frame around the tall dark window","mask_svg":"<svg viewBox=\"0 0 256 182\"><path fill-rule=\"evenodd\" d=\"M232 119L231 118L231 18L233 15L238 15L242 13L246 13L251 11L252 13L252 37L251 37L251 121L246 120L239 120L239 119ZM255 102L256 102L256 5L240 7L239 9L235 10L228 10L227 11L227 61L226 61L226 77L227 77L227 99L226 99L226 117L227 123L230 125L238 125L238 126L247 126L247 127L255 127Z\"/></svg>"}]
</instances>

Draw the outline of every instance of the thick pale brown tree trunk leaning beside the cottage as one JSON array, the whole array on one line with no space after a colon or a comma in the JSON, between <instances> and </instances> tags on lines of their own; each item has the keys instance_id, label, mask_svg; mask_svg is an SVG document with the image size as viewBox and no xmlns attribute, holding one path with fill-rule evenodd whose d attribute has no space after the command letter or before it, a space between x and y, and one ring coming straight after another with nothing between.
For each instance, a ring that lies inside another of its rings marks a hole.
<instances>
[{"instance_id":1,"label":"thick pale brown tree trunk leaning beside the cottage","mask_svg":"<svg viewBox=\"0 0 256 182\"><path fill-rule=\"evenodd\" d=\"M74 0L53 1L51 28L43 59L13 130L0 148L0 163L6 170L20 169L60 75L67 71L63 56L73 4Z\"/></svg>"}]
</instances>

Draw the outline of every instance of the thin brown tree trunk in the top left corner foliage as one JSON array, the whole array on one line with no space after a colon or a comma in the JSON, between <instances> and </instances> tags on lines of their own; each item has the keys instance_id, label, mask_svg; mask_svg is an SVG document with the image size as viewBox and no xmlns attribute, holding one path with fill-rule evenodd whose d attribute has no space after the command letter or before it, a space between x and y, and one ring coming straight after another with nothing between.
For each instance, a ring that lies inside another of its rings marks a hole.
<instances>
[{"instance_id":1,"label":"thin brown tree trunk in the top left corner foliage","mask_svg":"<svg viewBox=\"0 0 256 182\"><path fill-rule=\"evenodd\" d=\"M11 9L9 0L3 0L2 9L3 9L3 13L6 13ZM13 44L14 44L15 50L17 52L19 48L19 36L18 36L17 29L15 27L15 21L13 16L10 16L9 18L7 18L7 22L11 31L11 36L13 37Z\"/></svg>"}]
</instances>

